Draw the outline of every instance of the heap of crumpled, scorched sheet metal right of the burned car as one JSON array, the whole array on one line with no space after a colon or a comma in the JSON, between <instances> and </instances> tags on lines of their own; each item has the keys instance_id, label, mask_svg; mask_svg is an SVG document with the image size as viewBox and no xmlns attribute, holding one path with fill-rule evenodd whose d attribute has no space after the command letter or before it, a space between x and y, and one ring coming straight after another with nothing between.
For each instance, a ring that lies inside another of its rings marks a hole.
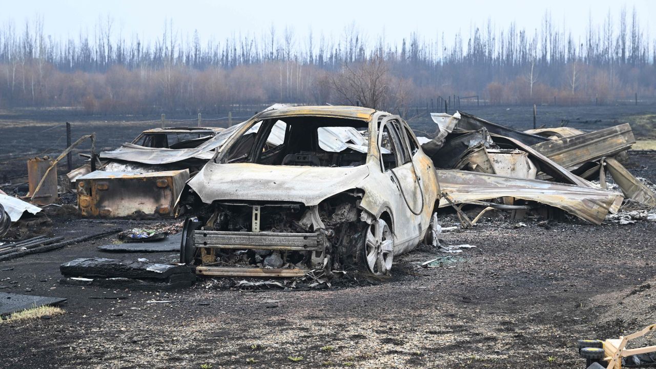
<instances>
[{"instance_id":1,"label":"heap of crumpled, scorched sheet metal right of the burned car","mask_svg":"<svg viewBox=\"0 0 656 369\"><path fill-rule=\"evenodd\" d=\"M607 219L623 224L651 219L649 211L617 214L623 197L656 206L653 188L621 164L635 143L628 124L589 133L569 127L521 132L464 112L431 116L438 129L422 148L439 168L440 207L456 207L466 227L491 209L521 218L531 209L540 211L536 203L595 224L609 213ZM609 187L606 173L617 187ZM590 182L595 178L599 183ZM484 208L470 221L464 205Z\"/></svg>"}]
</instances>

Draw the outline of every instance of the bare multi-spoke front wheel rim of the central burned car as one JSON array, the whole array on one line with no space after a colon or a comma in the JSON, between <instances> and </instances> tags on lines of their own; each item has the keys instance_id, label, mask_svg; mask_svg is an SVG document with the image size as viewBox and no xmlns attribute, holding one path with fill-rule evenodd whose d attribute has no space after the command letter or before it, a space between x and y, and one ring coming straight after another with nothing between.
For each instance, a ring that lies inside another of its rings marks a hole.
<instances>
[{"instance_id":1,"label":"bare multi-spoke front wheel rim of the central burned car","mask_svg":"<svg viewBox=\"0 0 656 369\"><path fill-rule=\"evenodd\" d=\"M365 238L365 265L376 275L389 274L394 260L394 240L390 227L378 219L367 227Z\"/></svg>"}]
</instances>

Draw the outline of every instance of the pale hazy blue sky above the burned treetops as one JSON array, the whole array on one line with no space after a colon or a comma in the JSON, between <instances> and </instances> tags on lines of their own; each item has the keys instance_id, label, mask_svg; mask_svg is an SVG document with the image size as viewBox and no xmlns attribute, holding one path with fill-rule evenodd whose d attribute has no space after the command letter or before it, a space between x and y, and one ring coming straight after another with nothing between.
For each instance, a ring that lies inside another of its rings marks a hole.
<instances>
[{"instance_id":1,"label":"pale hazy blue sky above the burned treetops","mask_svg":"<svg viewBox=\"0 0 656 369\"><path fill-rule=\"evenodd\" d=\"M390 42L400 41L411 32L436 39L445 33L453 39L457 30L466 37L472 25L483 27L491 18L497 28L507 28L515 21L519 28L537 28L545 11L550 11L558 28L565 24L575 35L584 35L588 15L602 24L610 10L617 22L621 7L626 5L627 18L632 8L638 11L642 29L656 36L656 1L3 1L0 22L14 22L22 27L25 20L42 16L45 33L56 37L76 37L80 30L93 28L98 19L113 19L113 35L119 32L127 40L138 33L140 38L154 40L162 33L166 19L173 20L178 35L187 37L198 30L201 41L222 41L232 35L268 33L272 24L281 35L285 26L293 28L297 41L306 39L312 28L315 39L323 32L327 37L340 37L350 24L375 41L384 32ZM617 28L615 28L617 30Z\"/></svg>"}]
</instances>

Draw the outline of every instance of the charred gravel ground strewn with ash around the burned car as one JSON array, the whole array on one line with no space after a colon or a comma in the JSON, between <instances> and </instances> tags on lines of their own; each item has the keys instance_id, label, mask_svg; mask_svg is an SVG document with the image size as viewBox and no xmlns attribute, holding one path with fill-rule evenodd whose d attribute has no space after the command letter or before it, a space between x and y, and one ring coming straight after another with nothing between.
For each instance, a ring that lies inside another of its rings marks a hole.
<instances>
[{"instance_id":1,"label":"charred gravel ground strewn with ash around the burned car","mask_svg":"<svg viewBox=\"0 0 656 369\"><path fill-rule=\"evenodd\" d=\"M0 175L25 174L24 159L14 159L47 151L60 127L42 131L58 123L5 121L0 147L12 160L1 161ZM73 139L96 131L101 148L148 128L102 121L77 127ZM656 154L631 152L626 167L656 182ZM656 322L656 223L596 226L567 218L539 227L541 220L485 218L440 236L447 245L477 247L438 267L417 263L449 254L420 246L395 259L390 278L335 282L327 290L239 290L213 280L172 292L58 283L59 265L79 257L178 258L96 249L116 236L0 262L0 291L68 299L64 315L0 323L0 367L584 368L576 339L617 337ZM181 223L61 213L52 221L52 233L67 238ZM457 218L440 221L450 226ZM148 302L156 300L171 302Z\"/></svg>"}]
</instances>

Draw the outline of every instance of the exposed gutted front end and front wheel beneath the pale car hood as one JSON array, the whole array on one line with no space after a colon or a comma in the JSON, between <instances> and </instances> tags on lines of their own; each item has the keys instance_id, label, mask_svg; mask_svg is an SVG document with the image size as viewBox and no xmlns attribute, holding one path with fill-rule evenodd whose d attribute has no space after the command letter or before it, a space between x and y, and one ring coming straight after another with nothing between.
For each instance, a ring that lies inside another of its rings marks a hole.
<instances>
[{"instance_id":1,"label":"exposed gutted front end and front wheel beneath the pale car hood","mask_svg":"<svg viewBox=\"0 0 656 369\"><path fill-rule=\"evenodd\" d=\"M197 219L188 221L201 227L187 238L188 249L181 261L199 265L196 272L201 275L300 276L312 269L358 267L367 250L373 271L384 274L392 267L392 244L380 245L379 258L373 234L382 225L386 228L384 236L389 238L389 228L382 220L367 224L369 216L359 209L361 198L361 191L352 190L318 206L216 203L214 213L203 225ZM364 244L365 232L372 233L369 248ZM222 268L215 272L208 268L213 265Z\"/></svg>"}]
</instances>

